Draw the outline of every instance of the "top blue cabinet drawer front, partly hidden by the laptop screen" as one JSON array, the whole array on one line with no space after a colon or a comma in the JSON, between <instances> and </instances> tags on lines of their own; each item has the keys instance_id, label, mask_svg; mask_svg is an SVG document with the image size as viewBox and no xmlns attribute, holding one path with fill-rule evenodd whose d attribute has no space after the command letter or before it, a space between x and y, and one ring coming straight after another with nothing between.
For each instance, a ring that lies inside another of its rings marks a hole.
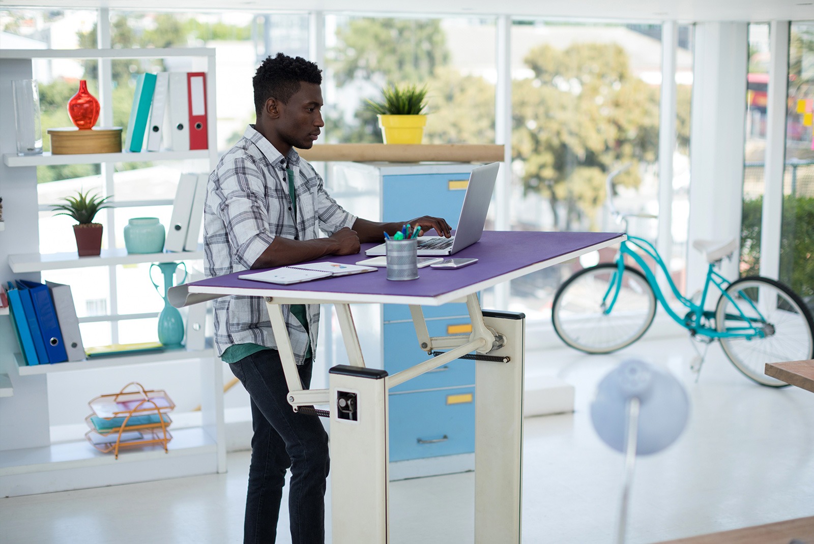
<instances>
[{"instance_id":1,"label":"top blue cabinet drawer front, partly hidden by the laptop screen","mask_svg":"<svg viewBox=\"0 0 814 544\"><path fill-rule=\"evenodd\" d=\"M443 217L457 228L467 180L468 171L382 176L382 220L407 221L431 215Z\"/></svg>"}]
</instances>

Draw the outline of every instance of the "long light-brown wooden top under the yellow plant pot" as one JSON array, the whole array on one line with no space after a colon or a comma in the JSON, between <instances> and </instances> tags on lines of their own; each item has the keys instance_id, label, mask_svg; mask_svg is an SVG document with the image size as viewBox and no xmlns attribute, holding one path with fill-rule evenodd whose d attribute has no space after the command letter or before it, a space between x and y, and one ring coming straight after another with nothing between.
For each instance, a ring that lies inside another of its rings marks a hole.
<instances>
[{"instance_id":1,"label":"long light-brown wooden top under the yellow plant pot","mask_svg":"<svg viewBox=\"0 0 814 544\"><path fill-rule=\"evenodd\" d=\"M352 163L494 163L503 160L497 144L318 144L297 150L308 161Z\"/></svg>"}]
</instances>

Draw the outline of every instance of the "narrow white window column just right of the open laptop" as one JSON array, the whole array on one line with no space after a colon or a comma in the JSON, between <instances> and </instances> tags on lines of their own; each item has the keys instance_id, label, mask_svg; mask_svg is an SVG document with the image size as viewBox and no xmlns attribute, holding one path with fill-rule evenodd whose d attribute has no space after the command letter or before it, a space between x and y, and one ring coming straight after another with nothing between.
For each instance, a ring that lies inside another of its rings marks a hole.
<instances>
[{"instance_id":1,"label":"narrow white window column just right of the open laptop","mask_svg":"<svg viewBox=\"0 0 814 544\"><path fill-rule=\"evenodd\" d=\"M495 230L509 230L511 195L511 17L500 15L495 23L497 85L495 85L495 143L502 144L503 164L495 186ZM495 285L495 307L509 307L509 282Z\"/></svg>"}]
</instances>

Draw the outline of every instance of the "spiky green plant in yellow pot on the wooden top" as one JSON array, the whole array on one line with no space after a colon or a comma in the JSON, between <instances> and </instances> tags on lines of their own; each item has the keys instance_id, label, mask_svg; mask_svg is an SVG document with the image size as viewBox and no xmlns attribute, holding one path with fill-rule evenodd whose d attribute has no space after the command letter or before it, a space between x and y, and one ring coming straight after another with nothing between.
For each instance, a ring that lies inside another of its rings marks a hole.
<instances>
[{"instance_id":1,"label":"spiky green plant in yellow pot on the wooden top","mask_svg":"<svg viewBox=\"0 0 814 544\"><path fill-rule=\"evenodd\" d=\"M427 85L387 86L381 102L367 101L370 110L379 114L386 144L420 144L427 124Z\"/></svg>"}]
</instances>

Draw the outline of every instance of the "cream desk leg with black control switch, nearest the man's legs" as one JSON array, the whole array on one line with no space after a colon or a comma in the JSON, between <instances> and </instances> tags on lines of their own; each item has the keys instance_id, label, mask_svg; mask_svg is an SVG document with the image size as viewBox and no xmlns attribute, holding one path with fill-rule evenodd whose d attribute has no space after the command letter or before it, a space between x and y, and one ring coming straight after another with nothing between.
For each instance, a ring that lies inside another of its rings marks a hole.
<instances>
[{"instance_id":1,"label":"cream desk leg with black control switch, nearest the man's legs","mask_svg":"<svg viewBox=\"0 0 814 544\"><path fill-rule=\"evenodd\" d=\"M338 365L329 375L333 542L387 544L387 371Z\"/></svg>"}]
</instances>

